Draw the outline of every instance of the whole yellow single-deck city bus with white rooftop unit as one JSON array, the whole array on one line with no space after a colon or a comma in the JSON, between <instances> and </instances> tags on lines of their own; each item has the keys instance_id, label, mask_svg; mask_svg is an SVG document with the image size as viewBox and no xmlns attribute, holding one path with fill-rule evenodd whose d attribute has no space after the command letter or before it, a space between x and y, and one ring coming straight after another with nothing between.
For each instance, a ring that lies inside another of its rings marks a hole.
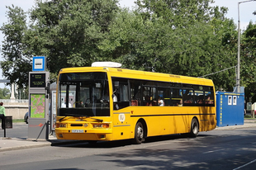
<instances>
[{"instance_id":1,"label":"whole yellow single-deck city bus with white rooftop unit","mask_svg":"<svg viewBox=\"0 0 256 170\"><path fill-rule=\"evenodd\" d=\"M141 144L149 136L196 137L199 131L216 128L210 79L102 64L59 71L57 139L133 139Z\"/></svg>"}]
</instances>

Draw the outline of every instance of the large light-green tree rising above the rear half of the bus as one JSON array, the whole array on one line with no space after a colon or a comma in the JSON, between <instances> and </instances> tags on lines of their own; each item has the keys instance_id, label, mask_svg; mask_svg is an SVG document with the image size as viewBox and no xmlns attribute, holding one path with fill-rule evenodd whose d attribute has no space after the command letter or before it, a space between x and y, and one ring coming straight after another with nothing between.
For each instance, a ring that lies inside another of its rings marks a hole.
<instances>
[{"instance_id":1,"label":"large light-green tree rising above the rear half of the bus","mask_svg":"<svg viewBox=\"0 0 256 170\"><path fill-rule=\"evenodd\" d=\"M126 68L146 71L200 77L235 66L234 21L210 2L138 0L135 12L122 10L101 48ZM208 78L231 91L235 69Z\"/></svg>"}]
</instances>

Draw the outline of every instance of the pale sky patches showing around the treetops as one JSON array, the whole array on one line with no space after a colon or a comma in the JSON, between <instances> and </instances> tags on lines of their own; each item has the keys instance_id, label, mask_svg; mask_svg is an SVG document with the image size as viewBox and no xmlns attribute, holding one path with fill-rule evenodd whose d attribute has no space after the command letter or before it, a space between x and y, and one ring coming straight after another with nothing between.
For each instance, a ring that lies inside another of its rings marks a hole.
<instances>
[{"instance_id":1,"label":"pale sky patches showing around the treetops","mask_svg":"<svg viewBox=\"0 0 256 170\"><path fill-rule=\"evenodd\" d=\"M35 6L35 0L0 0L0 26L2 23L7 22L6 6L21 7L25 12L27 12L31 7ZM121 7L135 7L135 0L120 0ZM256 22L256 16L252 13L256 11L256 1L255 2L244 2L244 0L215 0L215 3L212 6L219 6L219 7L228 7L229 11L226 15L228 18L232 18L235 21L235 24L238 23L238 2L239 5L239 17L240 17L240 28L241 30L245 30L246 26L248 26L249 21ZM3 35L0 31L0 45L2 46ZM2 54L0 51L0 60L2 60ZM32 68L31 68L32 71ZM2 78L2 69L0 68L0 79ZM0 83L0 88L7 87L10 89L9 86L5 86L4 83Z\"/></svg>"}]
</instances>

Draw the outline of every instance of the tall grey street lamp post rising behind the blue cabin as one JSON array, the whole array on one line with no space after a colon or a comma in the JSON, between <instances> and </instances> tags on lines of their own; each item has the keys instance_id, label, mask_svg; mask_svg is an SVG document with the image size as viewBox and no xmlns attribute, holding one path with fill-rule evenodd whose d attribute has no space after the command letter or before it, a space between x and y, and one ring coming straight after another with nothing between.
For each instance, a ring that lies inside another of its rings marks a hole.
<instances>
[{"instance_id":1,"label":"tall grey street lamp post rising behind the blue cabin","mask_svg":"<svg viewBox=\"0 0 256 170\"><path fill-rule=\"evenodd\" d=\"M244 2L253 2L256 0L238 2L238 43L237 43L237 78L236 78L236 89L240 92L240 16L239 16L239 4Z\"/></svg>"}]
</instances>

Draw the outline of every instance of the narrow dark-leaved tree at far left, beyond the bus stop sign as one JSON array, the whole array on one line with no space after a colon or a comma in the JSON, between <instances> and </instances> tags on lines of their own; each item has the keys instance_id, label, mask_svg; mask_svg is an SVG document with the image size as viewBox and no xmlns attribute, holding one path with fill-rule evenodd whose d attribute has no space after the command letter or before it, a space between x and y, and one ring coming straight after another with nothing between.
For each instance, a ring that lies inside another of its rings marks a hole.
<instances>
[{"instance_id":1,"label":"narrow dark-leaved tree at far left, beyond the bus stop sign","mask_svg":"<svg viewBox=\"0 0 256 170\"><path fill-rule=\"evenodd\" d=\"M4 35L2 42L1 62L2 75L23 87L28 82L28 72L31 71L31 60L24 55L26 44L26 13L20 7L7 7L8 23L4 23L1 31Z\"/></svg>"}]
</instances>

